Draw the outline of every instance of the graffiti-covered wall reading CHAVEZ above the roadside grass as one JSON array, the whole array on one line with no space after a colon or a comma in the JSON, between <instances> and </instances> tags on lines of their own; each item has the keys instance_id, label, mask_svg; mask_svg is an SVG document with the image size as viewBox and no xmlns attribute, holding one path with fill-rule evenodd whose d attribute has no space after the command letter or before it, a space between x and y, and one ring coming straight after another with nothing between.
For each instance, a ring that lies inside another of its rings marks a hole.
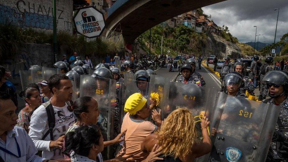
<instances>
[{"instance_id":1,"label":"graffiti-covered wall reading CHAVEZ above the roadside grass","mask_svg":"<svg viewBox=\"0 0 288 162\"><path fill-rule=\"evenodd\" d=\"M37 31L53 31L52 0L1 0L0 23L31 27ZM56 0L58 31L72 33L73 1Z\"/></svg>"}]
</instances>

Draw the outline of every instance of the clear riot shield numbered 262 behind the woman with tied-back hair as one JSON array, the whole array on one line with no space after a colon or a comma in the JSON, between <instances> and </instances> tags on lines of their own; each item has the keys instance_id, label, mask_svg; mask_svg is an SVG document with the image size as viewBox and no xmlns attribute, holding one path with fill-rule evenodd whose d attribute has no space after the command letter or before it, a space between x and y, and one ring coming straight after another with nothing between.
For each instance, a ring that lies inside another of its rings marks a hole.
<instances>
[{"instance_id":1,"label":"clear riot shield numbered 262 behind the woman with tied-back hair","mask_svg":"<svg viewBox=\"0 0 288 162\"><path fill-rule=\"evenodd\" d=\"M89 75L81 75L80 97L91 96L98 102L100 116L98 124L104 141L112 140L114 135L114 108L116 105L116 81L107 78L94 78ZM103 157L112 158L111 148L102 152Z\"/></svg>"}]
</instances>

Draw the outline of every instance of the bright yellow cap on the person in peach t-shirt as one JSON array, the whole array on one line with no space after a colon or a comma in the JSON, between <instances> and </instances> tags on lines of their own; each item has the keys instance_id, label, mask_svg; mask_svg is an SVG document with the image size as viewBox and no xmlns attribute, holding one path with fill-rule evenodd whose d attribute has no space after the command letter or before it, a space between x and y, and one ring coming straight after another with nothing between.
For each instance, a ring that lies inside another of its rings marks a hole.
<instances>
[{"instance_id":1,"label":"bright yellow cap on the person in peach t-shirt","mask_svg":"<svg viewBox=\"0 0 288 162\"><path fill-rule=\"evenodd\" d=\"M147 102L142 94L135 93L128 97L125 103L124 111L129 112L131 115L135 115L136 112L141 110Z\"/></svg>"}]
</instances>

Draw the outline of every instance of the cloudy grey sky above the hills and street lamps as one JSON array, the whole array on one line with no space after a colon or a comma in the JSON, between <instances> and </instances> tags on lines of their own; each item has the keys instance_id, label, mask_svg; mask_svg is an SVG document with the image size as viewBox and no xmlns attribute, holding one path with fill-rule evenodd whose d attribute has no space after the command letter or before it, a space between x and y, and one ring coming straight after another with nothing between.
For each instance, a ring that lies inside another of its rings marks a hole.
<instances>
[{"instance_id":1,"label":"cloudy grey sky above the hills and street lamps","mask_svg":"<svg viewBox=\"0 0 288 162\"><path fill-rule=\"evenodd\" d=\"M261 34L259 42L274 42L278 14L275 8L280 8L277 42L288 32L288 0L228 0L202 7L218 26L228 26L230 33L243 43L254 42L256 27L253 26L257 26L257 35Z\"/></svg>"}]
</instances>

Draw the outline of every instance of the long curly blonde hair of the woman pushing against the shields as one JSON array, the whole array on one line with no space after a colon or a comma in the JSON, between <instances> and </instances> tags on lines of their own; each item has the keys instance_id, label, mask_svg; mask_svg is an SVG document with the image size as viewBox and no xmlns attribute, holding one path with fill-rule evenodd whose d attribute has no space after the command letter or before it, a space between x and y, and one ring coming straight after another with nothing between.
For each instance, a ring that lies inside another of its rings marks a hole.
<instances>
[{"instance_id":1,"label":"long curly blonde hair of the woman pushing against the shields","mask_svg":"<svg viewBox=\"0 0 288 162\"><path fill-rule=\"evenodd\" d=\"M171 112L156 134L164 156L174 159L191 153L193 144L198 140L194 117L186 107Z\"/></svg>"}]
</instances>

